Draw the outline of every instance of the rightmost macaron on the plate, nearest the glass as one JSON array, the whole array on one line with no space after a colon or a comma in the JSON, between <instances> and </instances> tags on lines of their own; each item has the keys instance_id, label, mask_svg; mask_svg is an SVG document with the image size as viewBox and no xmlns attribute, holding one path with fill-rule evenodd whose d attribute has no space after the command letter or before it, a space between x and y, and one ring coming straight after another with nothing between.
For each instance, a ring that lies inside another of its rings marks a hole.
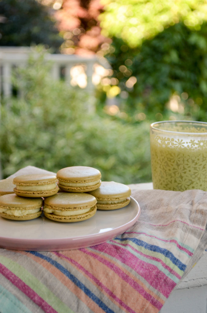
<instances>
[{"instance_id":1,"label":"rightmost macaron on the plate, nearest the glass","mask_svg":"<svg viewBox=\"0 0 207 313\"><path fill-rule=\"evenodd\" d=\"M97 199L97 209L116 210L129 204L131 189L119 182L101 182L101 186L89 194Z\"/></svg>"}]
</instances>

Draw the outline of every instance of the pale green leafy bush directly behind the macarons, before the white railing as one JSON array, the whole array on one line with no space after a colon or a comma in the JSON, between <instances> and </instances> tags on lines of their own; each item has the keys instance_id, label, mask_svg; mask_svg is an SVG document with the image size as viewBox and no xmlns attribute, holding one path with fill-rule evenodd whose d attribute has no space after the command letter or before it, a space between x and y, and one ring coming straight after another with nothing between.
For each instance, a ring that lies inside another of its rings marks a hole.
<instances>
[{"instance_id":1,"label":"pale green leafy bush directly behind the macarons, before the white railing","mask_svg":"<svg viewBox=\"0 0 207 313\"><path fill-rule=\"evenodd\" d=\"M27 165L53 172L84 165L98 168L106 181L150 181L149 123L123 125L91 113L92 96L51 80L49 65L44 54L31 57L14 75L21 98L3 101L4 177Z\"/></svg>"}]
</instances>

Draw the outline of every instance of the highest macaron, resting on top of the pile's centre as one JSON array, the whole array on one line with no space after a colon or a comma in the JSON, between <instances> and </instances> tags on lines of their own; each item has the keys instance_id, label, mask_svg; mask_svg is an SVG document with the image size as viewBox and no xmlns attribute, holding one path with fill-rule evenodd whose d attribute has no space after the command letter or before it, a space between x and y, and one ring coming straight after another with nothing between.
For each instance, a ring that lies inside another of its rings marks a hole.
<instances>
[{"instance_id":1,"label":"highest macaron, resting on top of the pile's centre","mask_svg":"<svg viewBox=\"0 0 207 313\"><path fill-rule=\"evenodd\" d=\"M88 192L101 185L101 173L88 166L71 166L57 172L58 186L66 192Z\"/></svg>"}]
</instances>

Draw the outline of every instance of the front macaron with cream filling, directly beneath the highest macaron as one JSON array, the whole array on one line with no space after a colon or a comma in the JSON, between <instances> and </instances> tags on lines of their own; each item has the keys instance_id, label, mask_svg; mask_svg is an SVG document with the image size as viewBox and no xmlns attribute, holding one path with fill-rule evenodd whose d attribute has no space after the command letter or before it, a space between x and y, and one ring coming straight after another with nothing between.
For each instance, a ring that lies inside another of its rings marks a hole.
<instances>
[{"instance_id":1,"label":"front macaron with cream filling, directly beneath the highest macaron","mask_svg":"<svg viewBox=\"0 0 207 313\"><path fill-rule=\"evenodd\" d=\"M45 198L44 215L57 222L80 222L96 213L96 198L84 192L58 192Z\"/></svg>"}]
</instances>

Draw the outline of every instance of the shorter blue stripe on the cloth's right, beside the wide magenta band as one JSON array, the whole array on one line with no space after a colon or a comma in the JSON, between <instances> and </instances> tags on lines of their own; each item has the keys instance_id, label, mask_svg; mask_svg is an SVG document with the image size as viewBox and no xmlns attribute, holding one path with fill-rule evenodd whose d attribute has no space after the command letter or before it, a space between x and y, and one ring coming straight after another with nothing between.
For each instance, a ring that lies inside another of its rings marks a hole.
<instances>
[{"instance_id":1,"label":"shorter blue stripe on the cloth's right, beside the wide magenta band","mask_svg":"<svg viewBox=\"0 0 207 313\"><path fill-rule=\"evenodd\" d=\"M119 241L124 241L124 240L129 240L134 242L136 245L138 246L142 246L145 249L148 249L150 251L154 251L154 252L159 252L161 254L163 254L166 258L170 259L170 261L175 264L180 270L184 271L186 269L186 265L184 263L182 263L179 259L177 259L174 254L172 252L170 252L167 249L164 248L160 248L159 246L156 246L154 244L148 244L147 242L137 239L137 238L119 238L116 237L115 240L119 240Z\"/></svg>"}]
</instances>

